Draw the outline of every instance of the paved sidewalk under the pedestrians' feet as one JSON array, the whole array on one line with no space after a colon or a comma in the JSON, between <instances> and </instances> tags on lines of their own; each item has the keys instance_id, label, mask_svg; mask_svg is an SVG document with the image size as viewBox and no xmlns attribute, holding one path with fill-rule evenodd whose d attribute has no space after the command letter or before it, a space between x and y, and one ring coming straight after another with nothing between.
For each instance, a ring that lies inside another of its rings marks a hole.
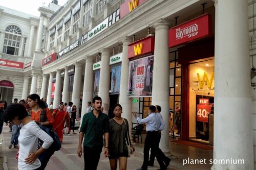
<instances>
[{"instance_id":1,"label":"paved sidewalk under the pedestrians' feet","mask_svg":"<svg viewBox=\"0 0 256 170\"><path fill-rule=\"evenodd\" d=\"M78 131L76 131L78 133ZM17 165L16 161L16 153L17 149L8 149L8 145L11 139L11 133L9 132L8 127L3 128L3 133L1 136L3 138L2 143L2 153L4 169L14 169ZM145 136L143 136L145 137ZM54 153L51 157L50 161L46 169L54 169L54 170L80 170L83 169L83 157L79 158L77 156L77 143L78 143L78 134L72 135L64 135L63 136L63 144L60 151ZM144 139L143 139L144 140ZM143 163L143 147L144 143L135 143L136 151L135 153L128 158L127 162L127 170L128 169L137 169L141 167ZM170 161L170 165L167 169L210 169L210 164L187 164L183 166L183 159L212 159L212 150L203 150L195 147L191 147L189 145L180 144L177 142L170 142L170 151L173 155L177 156L178 159L172 159ZM0 155L0 159L1 159ZM7 161L7 163L5 163ZM0 164L1 165L1 164ZM155 166L148 166L148 169L158 169L159 164L157 160L155 160ZM7 168L8 166L8 168ZM1 168L0 168L1 169ZM110 169L109 159L105 158L103 154L101 154L99 165L99 170ZM119 168L118 168L119 169Z\"/></svg>"}]
</instances>

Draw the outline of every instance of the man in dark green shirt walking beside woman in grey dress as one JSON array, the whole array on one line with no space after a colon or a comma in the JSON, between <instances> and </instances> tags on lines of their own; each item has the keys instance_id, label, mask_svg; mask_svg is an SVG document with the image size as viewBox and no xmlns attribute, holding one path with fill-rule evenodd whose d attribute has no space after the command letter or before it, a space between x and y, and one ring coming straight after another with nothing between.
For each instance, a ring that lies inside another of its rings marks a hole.
<instances>
[{"instance_id":1,"label":"man in dark green shirt walking beside woman in grey dress","mask_svg":"<svg viewBox=\"0 0 256 170\"><path fill-rule=\"evenodd\" d=\"M108 115L100 111L101 105L101 98L99 96L94 97L94 109L84 114L82 118L77 155L82 156L82 139L84 137L84 169L97 169L103 147L103 135L105 140L104 155L109 155L109 118Z\"/></svg>"}]
</instances>

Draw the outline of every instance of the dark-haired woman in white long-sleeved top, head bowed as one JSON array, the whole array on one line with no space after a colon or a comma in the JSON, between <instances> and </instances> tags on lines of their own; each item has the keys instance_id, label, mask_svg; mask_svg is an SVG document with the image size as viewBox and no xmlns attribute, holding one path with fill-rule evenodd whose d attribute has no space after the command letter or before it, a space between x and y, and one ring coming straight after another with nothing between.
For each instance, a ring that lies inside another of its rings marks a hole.
<instances>
[{"instance_id":1,"label":"dark-haired woman in white long-sleeved top, head bowed","mask_svg":"<svg viewBox=\"0 0 256 170\"><path fill-rule=\"evenodd\" d=\"M41 130L39 126L28 117L26 108L20 104L12 104L4 112L5 123L15 125L22 124L20 129L18 166L16 169L38 169L41 165L37 157L50 147L53 142L51 136ZM44 143L39 150L37 140L40 138Z\"/></svg>"}]
</instances>

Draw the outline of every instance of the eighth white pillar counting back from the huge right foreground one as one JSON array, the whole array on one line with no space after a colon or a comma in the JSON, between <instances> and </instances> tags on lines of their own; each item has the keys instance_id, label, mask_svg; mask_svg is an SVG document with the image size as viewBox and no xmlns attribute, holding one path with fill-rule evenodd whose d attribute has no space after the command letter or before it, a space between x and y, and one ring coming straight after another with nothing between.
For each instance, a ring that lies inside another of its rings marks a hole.
<instances>
[{"instance_id":1,"label":"eighth white pillar counting back from the huge right foreground one","mask_svg":"<svg viewBox=\"0 0 256 170\"><path fill-rule=\"evenodd\" d=\"M60 77L60 69L58 69L56 73L53 109L58 108L59 102L60 102L60 95L61 95L61 77Z\"/></svg>"}]
</instances>

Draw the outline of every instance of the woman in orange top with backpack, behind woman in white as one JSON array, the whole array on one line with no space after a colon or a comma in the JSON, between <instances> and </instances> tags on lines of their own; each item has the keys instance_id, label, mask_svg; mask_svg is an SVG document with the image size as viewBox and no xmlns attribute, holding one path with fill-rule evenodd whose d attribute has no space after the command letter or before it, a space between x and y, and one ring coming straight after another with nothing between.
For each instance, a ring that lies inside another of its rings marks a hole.
<instances>
[{"instance_id":1,"label":"woman in orange top with backpack, behind woman in white","mask_svg":"<svg viewBox=\"0 0 256 170\"><path fill-rule=\"evenodd\" d=\"M52 113L48 108L46 108L44 102L40 100L39 95L30 94L27 98L27 101L29 107L32 108L30 111L31 120L34 120L34 122L40 124L41 126L52 127L54 124ZM38 139L37 149L41 148L42 144L43 142ZM54 154L54 152L54 149L48 149L38 156L38 159L41 162L40 169L45 169L49 159Z\"/></svg>"}]
</instances>

